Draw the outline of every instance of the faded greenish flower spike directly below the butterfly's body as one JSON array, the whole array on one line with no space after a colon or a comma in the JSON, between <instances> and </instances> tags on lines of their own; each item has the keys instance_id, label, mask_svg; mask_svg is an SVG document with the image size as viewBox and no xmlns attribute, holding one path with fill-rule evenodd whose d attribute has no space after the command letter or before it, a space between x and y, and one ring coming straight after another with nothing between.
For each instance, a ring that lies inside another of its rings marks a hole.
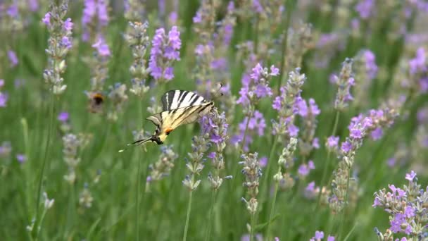
<instances>
[{"instance_id":1,"label":"faded greenish flower spike directly below the butterfly's body","mask_svg":"<svg viewBox=\"0 0 428 241\"><path fill-rule=\"evenodd\" d=\"M156 163L149 165L150 180L160 180L165 175L169 175L172 168L174 168L174 161L178 158L178 155L172 150L172 146L160 147L160 156Z\"/></svg>"}]
</instances>

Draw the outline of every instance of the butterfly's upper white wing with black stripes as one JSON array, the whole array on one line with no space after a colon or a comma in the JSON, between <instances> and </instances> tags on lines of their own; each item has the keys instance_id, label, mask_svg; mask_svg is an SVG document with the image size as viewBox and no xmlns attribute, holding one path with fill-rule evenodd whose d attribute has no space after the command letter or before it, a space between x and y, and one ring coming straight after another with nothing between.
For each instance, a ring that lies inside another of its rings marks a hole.
<instances>
[{"instance_id":1,"label":"butterfly's upper white wing with black stripes","mask_svg":"<svg viewBox=\"0 0 428 241\"><path fill-rule=\"evenodd\" d=\"M163 94L161 101L163 111L171 111L187 106L198 106L207 102L206 99L199 94L187 90L170 90Z\"/></svg>"}]
</instances>

